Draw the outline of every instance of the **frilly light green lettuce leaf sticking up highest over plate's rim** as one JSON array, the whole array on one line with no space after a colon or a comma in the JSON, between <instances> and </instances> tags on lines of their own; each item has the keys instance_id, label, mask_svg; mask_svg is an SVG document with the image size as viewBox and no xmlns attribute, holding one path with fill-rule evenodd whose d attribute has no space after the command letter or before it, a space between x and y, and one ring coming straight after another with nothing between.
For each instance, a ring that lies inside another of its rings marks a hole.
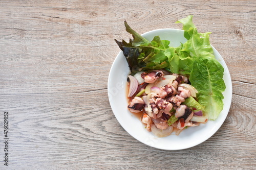
<instances>
[{"instance_id":1,"label":"frilly light green lettuce leaf sticking up highest over plate's rim","mask_svg":"<svg viewBox=\"0 0 256 170\"><path fill-rule=\"evenodd\" d=\"M176 48L178 56L175 56L169 62L170 70L177 74L190 75L196 58L215 57L209 41L210 32L198 33L192 19L193 16L189 15L176 22L182 23L184 37L188 39L184 44Z\"/></svg>"}]
</instances>

